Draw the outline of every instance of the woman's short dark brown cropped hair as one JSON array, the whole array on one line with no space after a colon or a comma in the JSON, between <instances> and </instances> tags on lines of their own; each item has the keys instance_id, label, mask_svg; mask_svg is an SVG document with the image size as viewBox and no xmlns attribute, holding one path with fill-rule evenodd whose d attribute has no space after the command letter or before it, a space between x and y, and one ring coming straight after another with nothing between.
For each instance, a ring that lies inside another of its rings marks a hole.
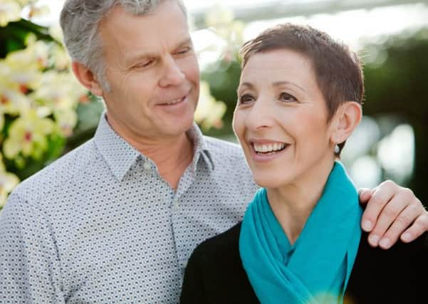
<instances>
[{"instance_id":1,"label":"woman's short dark brown cropped hair","mask_svg":"<svg viewBox=\"0 0 428 304\"><path fill-rule=\"evenodd\" d=\"M364 78L357 54L344 43L310 26L291 23L268 28L241 48L242 68L255 53L287 49L310 59L318 87L328 109L328 121L341 103L362 104ZM345 142L339 145L340 151ZM340 152L338 153L340 154Z\"/></svg>"}]
</instances>

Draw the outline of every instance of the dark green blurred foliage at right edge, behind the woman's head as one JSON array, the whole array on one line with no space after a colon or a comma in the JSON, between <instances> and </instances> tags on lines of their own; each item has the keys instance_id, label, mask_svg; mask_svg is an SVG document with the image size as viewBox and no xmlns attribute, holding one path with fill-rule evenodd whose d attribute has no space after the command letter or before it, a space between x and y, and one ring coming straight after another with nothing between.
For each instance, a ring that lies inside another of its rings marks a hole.
<instances>
[{"instance_id":1,"label":"dark green blurred foliage at right edge, behind the woman's head","mask_svg":"<svg viewBox=\"0 0 428 304\"><path fill-rule=\"evenodd\" d=\"M393 114L412 125L415 164L407 184L428 204L428 28L412 36L394 36L384 45L381 65L365 67L366 115Z\"/></svg>"}]
</instances>

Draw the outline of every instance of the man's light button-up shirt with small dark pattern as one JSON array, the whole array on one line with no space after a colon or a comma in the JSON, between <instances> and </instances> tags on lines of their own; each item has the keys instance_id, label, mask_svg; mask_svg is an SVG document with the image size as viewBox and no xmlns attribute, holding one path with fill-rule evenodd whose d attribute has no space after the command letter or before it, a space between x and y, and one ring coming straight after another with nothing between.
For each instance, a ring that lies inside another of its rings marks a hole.
<instances>
[{"instance_id":1,"label":"man's light button-up shirt with small dark pattern","mask_svg":"<svg viewBox=\"0 0 428 304\"><path fill-rule=\"evenodd\" d=\"M177 190L103 115L92 140L22 182L0 215L0 303L177 303L198 243L256 185L238 145L188 132Z\"/></svg>"}]
</instances>

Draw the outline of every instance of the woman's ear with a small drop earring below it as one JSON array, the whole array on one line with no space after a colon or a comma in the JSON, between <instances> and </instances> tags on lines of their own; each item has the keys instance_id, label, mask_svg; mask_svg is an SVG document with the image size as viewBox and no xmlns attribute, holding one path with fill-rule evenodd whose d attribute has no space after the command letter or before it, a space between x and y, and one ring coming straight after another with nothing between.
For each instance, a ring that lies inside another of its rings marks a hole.
<instances>
[{"instance_id":1,"label":"woman's ear with a small drop earring below it","mask_svg":"<svg viewBox=\"0 0 428 304\"><path fill-rule=\"evenodd\" d=\"M340 144L350 137L357 125L360 124L362 109L359 103L348 101L339 106L333 117L333 127L330 140Z\"/></svg>"}]
</instances>

